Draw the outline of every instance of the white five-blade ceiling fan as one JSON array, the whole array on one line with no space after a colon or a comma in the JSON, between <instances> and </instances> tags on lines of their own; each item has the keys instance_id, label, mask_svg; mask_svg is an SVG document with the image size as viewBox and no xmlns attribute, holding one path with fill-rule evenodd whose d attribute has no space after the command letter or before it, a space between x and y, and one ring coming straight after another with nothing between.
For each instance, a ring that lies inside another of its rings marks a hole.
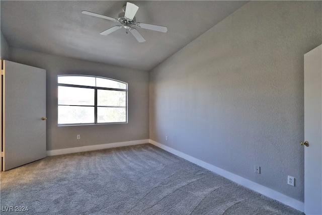
<instances>
[{"instance_id":1,"label":"white five-blade ceiling fan","mask_svg":"<svg viewBox=\"0 0 322 215\"><path fill-rule=\"evenodd\" d=\"M138 42L144 42L145 39L142 37L142 35L135 28L132 28L133 25L138 28L144 28L144 29L153 30L153 31L159 31L159 32L167 32L168 31L168 28L165 26L151 25L151 24L146 24L146 23L137 23L135 21L135 14L138 9L139 9L139 7L128 2L128 3L126 3L125 6L123 6L123 13L119 13L118 19L107 17L107 16L100 15L100 14L96 14L96 13L89 12L89 11L82 11L82 13L86 14L86 15L94 16L94 17L99 17L99 18L111 20L114 22L119 22L121 24L121 25L114 26L112 28L109 28L109 29L101 32L100 33L101 35L109 35L109 34L113 33L114 31L119 30L123 27L126 29L126 33L127 33L127 30L129 30Z\"/></svg>"}]
</instances>

